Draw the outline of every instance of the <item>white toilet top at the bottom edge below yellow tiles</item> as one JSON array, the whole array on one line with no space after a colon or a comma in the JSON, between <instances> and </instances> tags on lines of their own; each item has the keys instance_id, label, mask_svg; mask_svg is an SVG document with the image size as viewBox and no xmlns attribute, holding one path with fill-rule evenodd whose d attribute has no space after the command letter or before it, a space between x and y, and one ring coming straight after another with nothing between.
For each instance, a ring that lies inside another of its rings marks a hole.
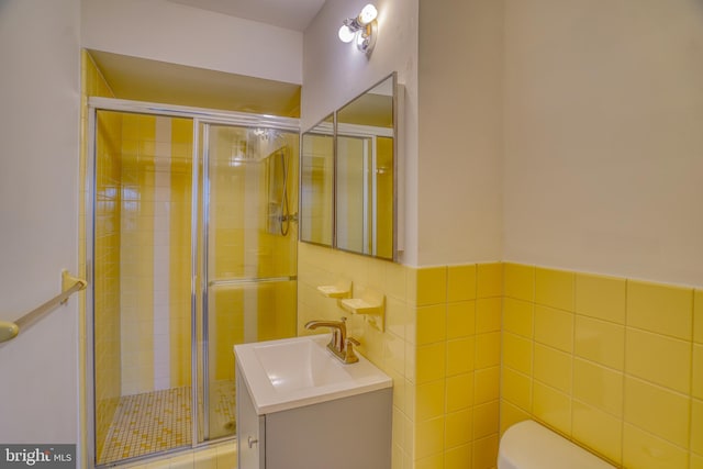
<instances>
[{"instance_id":1,"label":"white toilet top at the bottom edge below yellow tiles","mask_svg":"<svg viewBox=\"0 0 703 469\"><path fill-rule=\"evenodd\" d=\"M498 449L498 469L614 469L603 459L534 421L505 431Z\"/></svg>"}]
</instances>

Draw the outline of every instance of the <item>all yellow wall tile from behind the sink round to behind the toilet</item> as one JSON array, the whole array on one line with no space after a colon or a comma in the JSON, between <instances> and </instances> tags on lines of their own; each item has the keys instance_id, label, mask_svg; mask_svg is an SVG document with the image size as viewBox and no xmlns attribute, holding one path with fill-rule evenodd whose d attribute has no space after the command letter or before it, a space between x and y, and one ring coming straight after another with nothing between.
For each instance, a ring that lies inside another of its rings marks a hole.
<instances>
[{"instance_id":1,"label":"all yellow wall tile from behind the sink round to behind the toilet","mask_svg":"<svg viewBox=\"0 0 703 469\"><path fill-rule=\"evenodd\" d=\"M338 280L386 294L384 333L348 321L393 378L393 468L493 468L525 418L616 467L703 468L703 290L299 244L299 334L344 315L316 291Z\"/></svg>"}]
</instances>

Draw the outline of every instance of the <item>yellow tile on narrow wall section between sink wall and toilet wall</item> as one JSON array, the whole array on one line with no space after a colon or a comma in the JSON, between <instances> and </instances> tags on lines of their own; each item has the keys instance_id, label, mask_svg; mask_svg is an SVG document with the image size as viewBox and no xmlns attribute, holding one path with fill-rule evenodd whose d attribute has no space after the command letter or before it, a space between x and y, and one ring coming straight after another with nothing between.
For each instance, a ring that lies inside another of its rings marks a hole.
<instances>
[{"instance_id":1,"label":"yellow tile on narrow wall section between sink wall and toilet wall","mask_svg":"<svg viewBox=\"0 0 703 469\"><path fill-rule=\"evenodd\" d=\"M493 467L502 266L408 268L408 275L415 316L414 467Z\"/></svg>"}]
</instances>

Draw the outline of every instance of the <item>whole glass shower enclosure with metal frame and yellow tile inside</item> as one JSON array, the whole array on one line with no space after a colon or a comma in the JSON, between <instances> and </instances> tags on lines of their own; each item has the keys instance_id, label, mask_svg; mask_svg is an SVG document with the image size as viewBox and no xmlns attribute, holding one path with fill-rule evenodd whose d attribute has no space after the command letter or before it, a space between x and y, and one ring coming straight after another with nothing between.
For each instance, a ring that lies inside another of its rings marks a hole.
<instances>
[{"instance_id":1,"label":"whole glass shower enclosure with metal frame and yellow tile inside","mask_svg":"<svg viewBox=\"0 0 703 469\"><path fill-rule=\"evenodd\" d=\"M94 461L234 437L233 346L295 335L298 122L90 110Z\"/></svg>"}]
</instances>

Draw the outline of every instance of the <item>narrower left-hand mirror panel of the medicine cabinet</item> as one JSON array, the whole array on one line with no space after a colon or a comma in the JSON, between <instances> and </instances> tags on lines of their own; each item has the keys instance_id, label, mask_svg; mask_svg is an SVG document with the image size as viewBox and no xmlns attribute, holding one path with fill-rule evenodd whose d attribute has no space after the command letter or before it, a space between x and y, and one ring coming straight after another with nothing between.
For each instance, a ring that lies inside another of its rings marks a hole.
<instances>
[{"instance_id":1,"label":"narrower left-hand mirror panel of the medicine cabinet","mask_svg":"<svg viewBox=\"0 0 703 469\"><path fill-rule=\"evenodd\" d=\"M330 114L302 136L300 239L332 246L334 123Z\"/></svg>"}]
</instances>

